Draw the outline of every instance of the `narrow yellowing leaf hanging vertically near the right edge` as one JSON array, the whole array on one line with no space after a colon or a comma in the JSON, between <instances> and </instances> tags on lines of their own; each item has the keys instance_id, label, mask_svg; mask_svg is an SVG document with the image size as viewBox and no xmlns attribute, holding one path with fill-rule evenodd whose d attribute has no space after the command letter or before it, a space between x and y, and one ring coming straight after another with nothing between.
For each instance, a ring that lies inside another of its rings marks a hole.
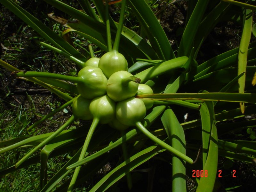
<instances>
[{"instance_id":1,"label":"narrow yellowing leaf hanging vertically near the right edge","mask_svg":"<svg viewBox=\"0 0 256 192\"><path fill-rule=\"evenodd\" d=\"M245 10L244 10L245 11ZM248 46L252 34L252 10L247 9L244 21L243 33L239 45L238 52L238 75L246 72ZM244 93L245 87L245 74L238 79L239 93ZM244 113L244 103L240 103L242 113Z\"/></svg>"}]
</instances>

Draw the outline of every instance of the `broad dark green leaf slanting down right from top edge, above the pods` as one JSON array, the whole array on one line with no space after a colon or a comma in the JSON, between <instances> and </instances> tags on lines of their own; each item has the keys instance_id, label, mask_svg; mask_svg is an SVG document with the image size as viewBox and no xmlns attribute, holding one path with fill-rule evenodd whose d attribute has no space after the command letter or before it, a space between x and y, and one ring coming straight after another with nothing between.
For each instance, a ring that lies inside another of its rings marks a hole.
<instances>
[{"instance_id":1,"label":"broad dark green leaf slanting down right from top edge, above the pods","mask_svg":"<svg viewBox=\"0 0 256 192\"><path fill-rule=\"evenodd\" d=\"M144 27L150 43L156 50L160 59L170 60L175 58L168 38L156 16L145 1L128 0L141 25Z\"/></svg>"}]
</instances>

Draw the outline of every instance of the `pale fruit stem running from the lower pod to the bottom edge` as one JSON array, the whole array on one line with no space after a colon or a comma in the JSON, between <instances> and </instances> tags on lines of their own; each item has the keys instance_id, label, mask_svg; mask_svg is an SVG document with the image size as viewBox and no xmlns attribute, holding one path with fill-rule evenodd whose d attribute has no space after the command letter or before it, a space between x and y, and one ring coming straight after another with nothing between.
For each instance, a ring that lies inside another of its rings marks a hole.
<instances>
[{"instance_id":1,"label":"pale fruit stem running from the lower pod to the bottom edge","mask_svg":"<svg viewBox=\"0 0 256 192\"><path fill-rule=\"evenodd\" d=\"M87 148L88 148L88 145L89 145L89 142L90 142L90 140L92 138L92 134L93 134L95 128L97 127L99 121L100 121L99 118L95 118L95 117L93 118L92 125L91 125L91 127L89 129L89 132L88 132L88 134L86 136L86 139L84 141L84 146L82 148L82 151L80 153L78 161L80 161L80 160L82 160L84 158L84 156L86 154L86 151L87 151ZM78 173L79 173L80 169L81 169L81 166L76 167L75 172L73 174L73 177L72 177L72 179L70 181L70 184L68 186L68 192L72 192L72 190L74 188L74 185L76 183L76 179L77 179L77 176L78 176Z\"/></svg>"}]
</instances>

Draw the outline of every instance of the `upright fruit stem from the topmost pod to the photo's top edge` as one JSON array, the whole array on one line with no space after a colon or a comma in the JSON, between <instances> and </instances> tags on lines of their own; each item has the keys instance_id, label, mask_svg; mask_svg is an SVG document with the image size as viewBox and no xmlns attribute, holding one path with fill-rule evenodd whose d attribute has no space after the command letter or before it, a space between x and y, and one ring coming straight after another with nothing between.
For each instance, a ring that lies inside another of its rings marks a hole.
<instances>
[{"instance_id":1,"label":"upright fruit stem from the topmost pod to the photo's top edge","mask_svg":"<svg viewBox=\"0 0 256 192\"><path fill-rule=\"evenodd\" d=\"M126 0L122 0L120 18L119 18L118 28L116 31L116 39L115 39L115 43L113 46L113 51L117 51L117 52L118 52L120 38L121 38L123 24L124 24L125 5L126 5Z\"/></svg>"}]
</instances>

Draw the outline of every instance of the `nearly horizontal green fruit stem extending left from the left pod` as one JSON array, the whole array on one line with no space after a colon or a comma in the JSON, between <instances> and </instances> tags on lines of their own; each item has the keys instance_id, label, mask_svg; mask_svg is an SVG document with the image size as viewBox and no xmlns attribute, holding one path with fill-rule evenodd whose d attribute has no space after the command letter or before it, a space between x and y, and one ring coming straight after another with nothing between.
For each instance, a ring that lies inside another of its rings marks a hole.
<instances>
[{"instance_id":1,"label":"nearly horizontal green fruit stem extending left from the left pod","mask_svg":"<svg viewBox=\"0 0 256 192\"><path fill-rule=\"evenodd\" d=\"M24 72L19 72L14 74L18 77L45 77L45 78L71 81L75 83L83 82L83 79L81 77L74 77L74 76L61 75L61 74L48 73L48 72L24 71Z\"/></svg>"}]
</instances>

